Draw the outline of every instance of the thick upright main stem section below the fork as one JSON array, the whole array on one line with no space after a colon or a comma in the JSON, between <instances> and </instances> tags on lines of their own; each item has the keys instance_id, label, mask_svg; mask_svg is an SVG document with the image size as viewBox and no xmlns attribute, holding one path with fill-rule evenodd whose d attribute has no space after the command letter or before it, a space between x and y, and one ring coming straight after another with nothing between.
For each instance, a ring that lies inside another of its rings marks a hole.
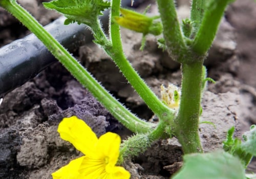
<instances>
[{"instance_id":1,"label":"thick upright main stem section below the fork","mask_svg":"<svg viewBox=\"0 0 256 179\"><path fill-rule=\"evenodd\" d=\"M198 132L202 65L202 61L182 64L181 101L174 130L184 153L202 152Z\"/></svg>"}]
</instances>

